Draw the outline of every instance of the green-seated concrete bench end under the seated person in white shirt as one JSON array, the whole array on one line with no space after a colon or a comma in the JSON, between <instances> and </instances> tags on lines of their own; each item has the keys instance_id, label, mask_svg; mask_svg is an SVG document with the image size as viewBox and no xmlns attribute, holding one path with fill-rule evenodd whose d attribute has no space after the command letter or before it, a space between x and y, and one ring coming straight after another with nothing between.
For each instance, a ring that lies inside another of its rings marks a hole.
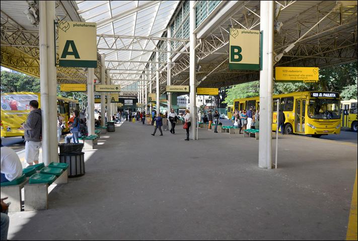
<instances>
[{"instance_id":1,"label":"green-seated concrete bench end under the seated person in white shirt","mask_svg":"<svg viewBox=\"0 0 358 241\"><path fill-rule=\"evenodd\" d=\"M36 172L36 171L35 171ZM8 197L7 202L11 202L9 206L9 212L20 212L21 211L21 189L24 188L27 183L25 174L22 174L17 179L11 182L1 183L1 198Z\"/></svg>"}]
</instances>

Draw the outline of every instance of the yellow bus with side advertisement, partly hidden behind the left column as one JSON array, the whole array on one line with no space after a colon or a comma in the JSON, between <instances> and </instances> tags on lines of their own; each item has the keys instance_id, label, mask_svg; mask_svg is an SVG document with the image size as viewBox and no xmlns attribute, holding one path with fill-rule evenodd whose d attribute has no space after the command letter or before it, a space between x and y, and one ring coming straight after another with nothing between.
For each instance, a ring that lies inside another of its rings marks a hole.
<instances>
[{"instance_id":1,"label":"yellow bus with side advertisement, partly hidden behind the left column","mask_svg":"<svg viewBox=\"0 0 358 241\"><path fill-rule=\"evenodd\" d=\"M26 122L30 112L29 102L33 99L39 102L39 108L41 108L40 93L1 93L1 137L24 136L24 129L21 127L21 124ZM57 97L57 111L65 121L65 129L62 131L63 133L69 131L67 122L69 115L71 115L75 109L79 109L78 100Z\"/></svg>"}]
</instances>

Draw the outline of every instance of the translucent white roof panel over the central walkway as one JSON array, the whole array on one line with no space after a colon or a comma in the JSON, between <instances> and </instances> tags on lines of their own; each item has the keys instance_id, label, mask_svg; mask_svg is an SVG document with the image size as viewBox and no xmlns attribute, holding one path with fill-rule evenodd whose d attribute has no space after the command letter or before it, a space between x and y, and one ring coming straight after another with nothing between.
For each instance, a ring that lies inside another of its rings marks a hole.
<instances>
[{"instance_id":1,"label":"translucent white roof panel over the central walkway","mask_svg":"<svg viewBox=\"0 0 358 241\"><path fill-rule=\"evenodd\" d=\"M106 54L106 66L109 66L112 73L116 73L113 76L138 79L137 75L128 74L128 69L131 73L140 73L145 65L138 62L149 61L152 54L150 51L156 49L155 45L158 41L153 43L149 39L136 40L133 36L163 36L179 1L76 1L76 3L79 15L86 22L97 23L98 35L121 36L115 42L114 38L106 37L105 40L101 38L98 43L98 48L102 48L99 53ZM97 40L99 38L97 37Z\"/></svg>"}]
</instances>

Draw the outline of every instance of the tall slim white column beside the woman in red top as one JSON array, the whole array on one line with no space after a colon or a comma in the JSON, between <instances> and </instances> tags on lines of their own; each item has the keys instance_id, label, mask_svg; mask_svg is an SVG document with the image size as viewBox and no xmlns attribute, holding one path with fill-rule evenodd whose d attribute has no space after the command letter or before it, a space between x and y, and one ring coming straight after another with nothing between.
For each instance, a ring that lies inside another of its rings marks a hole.
<instances>
[{"instance_id":1,"label":"tall slim white column beside the woman in red top","mask_svg":"<svg viewBox=\"0 0 358 241\"><path fill-rule=\"evenodd\" d=\"M196 34L195 29L195 8L194 1L190 1L190 64L189 64L189 77L190 77L190 114L191 114L191 127L190 127L190 139L196 139L196 56L195 56L195 45L196 45Z\"/></svg>"}]
</instances>

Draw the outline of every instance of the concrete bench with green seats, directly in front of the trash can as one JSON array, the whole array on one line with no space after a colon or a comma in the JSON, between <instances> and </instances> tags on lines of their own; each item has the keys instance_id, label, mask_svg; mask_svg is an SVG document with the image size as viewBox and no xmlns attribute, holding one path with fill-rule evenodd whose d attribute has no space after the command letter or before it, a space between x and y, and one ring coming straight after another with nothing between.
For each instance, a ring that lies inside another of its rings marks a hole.
<instances>
[{"instance_id":1,"label":"concrete bench with green seats, directly in front of the trash can","mask_svg":"<svg viewBox=\"0 0 358 241\"><path fill-rule=\"evenodd\" d=\"M68 182L68 164L52 162L29 178L25 185L25 211L48 208L48 187Z\"/></svg>"}]
</instances>

